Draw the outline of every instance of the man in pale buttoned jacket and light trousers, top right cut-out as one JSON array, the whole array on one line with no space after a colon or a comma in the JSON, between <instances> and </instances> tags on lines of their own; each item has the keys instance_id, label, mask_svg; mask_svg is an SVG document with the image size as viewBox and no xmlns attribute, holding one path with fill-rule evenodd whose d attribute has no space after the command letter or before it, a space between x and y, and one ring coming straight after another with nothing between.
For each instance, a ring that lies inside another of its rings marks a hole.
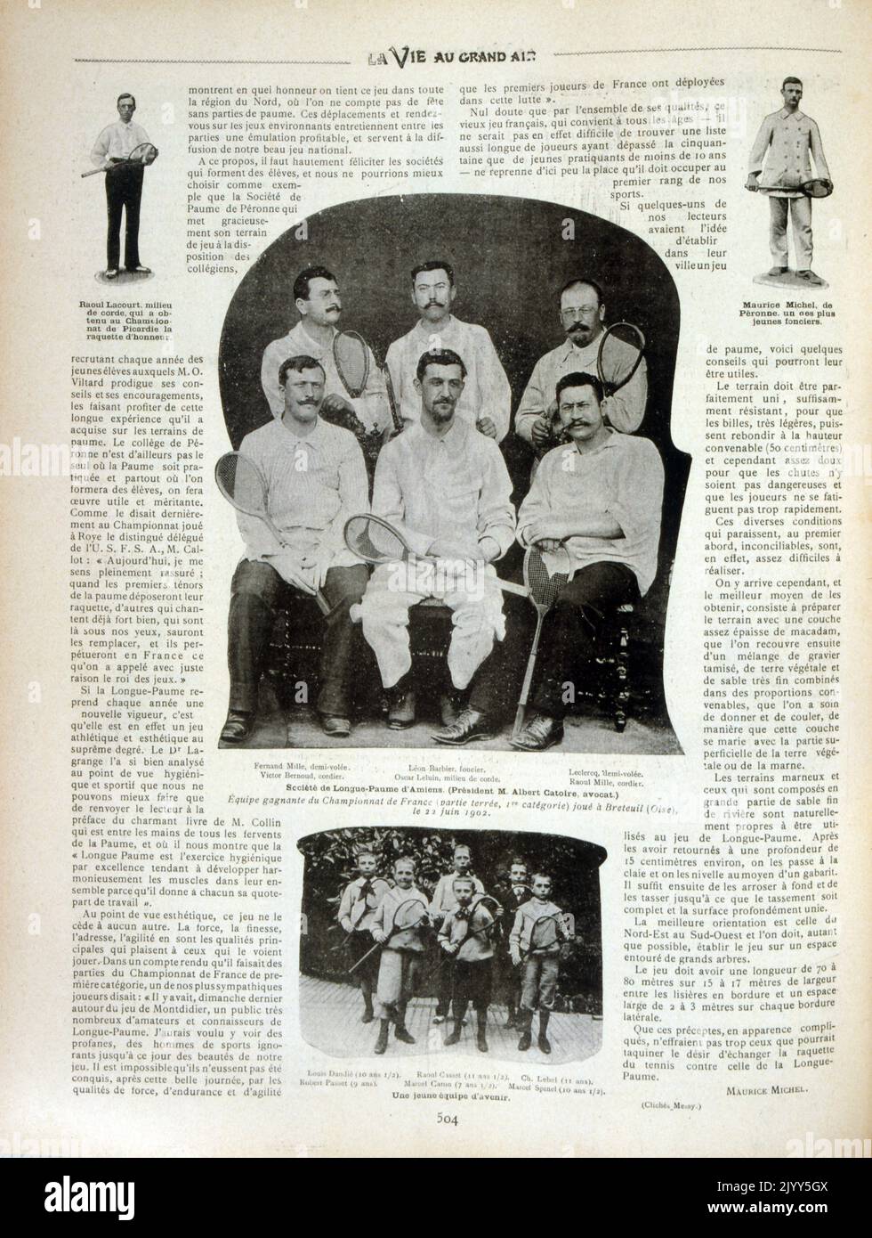
<instances>
[{"instance_id":1,"label":"man in pale buttoned jacket and light trousers, top right cut-out","mask_svg":"<svg viewBox=\"0 0 872 1238\"><path fill-rule=\"evenodd\" d=\"M830 191L832 181L818 125L799 110L801 98L803 83L799 78L784 78L784 106L766 116L759 126L751 150L745 188L752 193L763 193L769 199L769 250L773 265L767 274L784 275L788 269L789 210L797 279L804 284L820 285L824 281L811 270L811 198L801 188L811 180L809 156L814 158L815 171L829 184Z\"/></svg>"}]
</instances>

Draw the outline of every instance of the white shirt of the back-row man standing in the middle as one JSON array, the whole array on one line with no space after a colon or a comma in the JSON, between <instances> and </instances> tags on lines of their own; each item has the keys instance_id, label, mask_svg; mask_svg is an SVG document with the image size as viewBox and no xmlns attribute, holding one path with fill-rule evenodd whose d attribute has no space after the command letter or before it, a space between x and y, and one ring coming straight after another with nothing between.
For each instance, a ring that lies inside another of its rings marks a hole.
<instances>
[{"instance_id":1,"label":"white shirt of the back-row man standing in the middle","mask_svg":"<svg viewBox=\"0 0 872 1238\"><path fill-rule=\"evenodd\" d=\"M456 353L466 366L464 390L454 416L472 426L480 417L490 417L500 442L508 433L512 411L512 389L506 371L487 331L454 317L440 326L417 322L387 350L386 364L403 420L418 421L421 417L421 396L414 387L418 361L424 353L444 348Z\"/></svg>"}]
</instances>

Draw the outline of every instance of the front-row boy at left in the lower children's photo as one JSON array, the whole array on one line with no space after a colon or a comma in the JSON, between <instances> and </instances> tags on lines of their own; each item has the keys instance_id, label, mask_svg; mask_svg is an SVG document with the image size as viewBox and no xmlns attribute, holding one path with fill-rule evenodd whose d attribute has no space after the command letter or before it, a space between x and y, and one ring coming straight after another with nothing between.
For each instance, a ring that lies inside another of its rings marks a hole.
<instances>
[{"instance_id":1,"label":"front-row boy at left in the lower children's photo","mask_svg":"<svg viewBox=\"0 0 872 1238\"><path fill-rule=\"evenodd\" d=\"M378 958L376 1005L380 1020L375 1052L387 1049L387 1034L404 1045L413 1045L406 1028L406 1006L414 993L414 982L424 954L424 928L429 925L427 899L414 884L414 860L398 859L393 865L396 885L388 890L372 914L370 932L382 946Z\"/></svg>"}]
</instances>

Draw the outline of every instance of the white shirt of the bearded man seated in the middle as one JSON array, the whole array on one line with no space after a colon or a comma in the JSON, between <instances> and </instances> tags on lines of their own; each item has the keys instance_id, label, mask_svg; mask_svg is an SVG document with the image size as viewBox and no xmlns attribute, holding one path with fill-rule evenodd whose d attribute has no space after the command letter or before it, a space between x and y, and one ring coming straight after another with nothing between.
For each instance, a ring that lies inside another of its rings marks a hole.
<instances>
[{"instance_id":1,"label":"white shirt of the bearded man seated in the middle","mask_svg":"<svg viewBox=\"0 0 872 1238\"><path fill-rule=\"evenodd\" d=\"M502 556L515 537L511 494L506 462L492 438L456 420L438 438L417 422L382 447L372 511L400 526L417 555L425 555L437 537L492 537Z\"/></svg>"}]
</instances>

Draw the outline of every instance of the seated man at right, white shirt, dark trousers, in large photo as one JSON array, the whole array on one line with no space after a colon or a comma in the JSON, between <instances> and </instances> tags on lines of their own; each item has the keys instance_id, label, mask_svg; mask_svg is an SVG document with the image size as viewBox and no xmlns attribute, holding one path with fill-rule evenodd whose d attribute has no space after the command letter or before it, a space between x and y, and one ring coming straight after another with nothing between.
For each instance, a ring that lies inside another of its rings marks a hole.
<instances>
[{"instance_id":1,"label":"seated man at right, white shirt, dark trousers, in large photo","mask_svg":"<svg viewBox=\"0 0 872 1238\"><path fill-rule=\"evenodd\" d=\"M542 459L518 511L521 545L569 576L542 625L531 709L511 740L526 751L563 739L568 686L586 673L602 618L651 588L660 536L663 464L651 439L606 426L592 374L564 375L557 400L570 442ZM435 739L460 745L498 729L517 704L534 621L528 603L510 609L506 639L476 676L469 708Z\"/></svg>"}]
</instances>

